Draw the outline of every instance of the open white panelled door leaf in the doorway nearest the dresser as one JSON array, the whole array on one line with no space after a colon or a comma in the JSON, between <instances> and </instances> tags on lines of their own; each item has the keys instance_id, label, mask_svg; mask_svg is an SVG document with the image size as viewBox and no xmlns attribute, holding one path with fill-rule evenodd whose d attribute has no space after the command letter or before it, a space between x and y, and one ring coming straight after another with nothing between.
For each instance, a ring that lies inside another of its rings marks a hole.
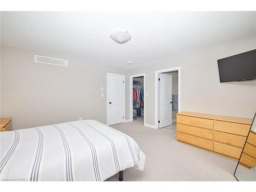
<instances>
[{"instance_id":1,"label":"open white panelled door leaf in the doorway nearest the dresser","mask_svg":"<svg viewBox=\"0 0 256 192\"><path fill-rule=\"evenodd\" d=\"M172 119L172 86L173 76L159 74L159 128L173 124Z\"/></svg>"}]
</instances>

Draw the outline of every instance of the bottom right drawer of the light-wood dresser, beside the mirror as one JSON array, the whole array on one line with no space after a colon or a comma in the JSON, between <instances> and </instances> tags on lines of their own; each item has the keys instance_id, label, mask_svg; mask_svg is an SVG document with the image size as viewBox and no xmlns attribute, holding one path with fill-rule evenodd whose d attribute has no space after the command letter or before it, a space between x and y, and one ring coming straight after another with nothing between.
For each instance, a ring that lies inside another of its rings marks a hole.
<instances>
[{"instance_id":1,"label":"bottom right drawer of the light-wood dresser, beside the mirror","mask_svg":"<svg viewBox=\"0 0 256 192\"><path fill-rule=\"evenodd\" d=\"M220 154L224 154L239 159L242 153L242 148L214 141L214 151Z\"/></svg>"}]
</instances>

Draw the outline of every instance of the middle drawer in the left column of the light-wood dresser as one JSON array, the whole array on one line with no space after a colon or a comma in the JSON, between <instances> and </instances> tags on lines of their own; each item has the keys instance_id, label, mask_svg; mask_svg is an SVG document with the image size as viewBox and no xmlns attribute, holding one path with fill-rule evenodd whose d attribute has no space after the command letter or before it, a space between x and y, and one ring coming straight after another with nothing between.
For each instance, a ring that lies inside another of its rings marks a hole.
<instances>
[{"instance_id":1,"label":"middle drawer in the left column of the light-wood dresser","mask_svg":"<svg viewBox=\"0 0 256 192\"><path fill-rule=\"evenodd\" d=\"M186 133L189 135L194 135L198 137L203 137L205 139L213 140L213 131L208 129L203 129L196 126L186 125L186 124L180 124L177 123L177 131Z\"/></svg>"}]
</instances>

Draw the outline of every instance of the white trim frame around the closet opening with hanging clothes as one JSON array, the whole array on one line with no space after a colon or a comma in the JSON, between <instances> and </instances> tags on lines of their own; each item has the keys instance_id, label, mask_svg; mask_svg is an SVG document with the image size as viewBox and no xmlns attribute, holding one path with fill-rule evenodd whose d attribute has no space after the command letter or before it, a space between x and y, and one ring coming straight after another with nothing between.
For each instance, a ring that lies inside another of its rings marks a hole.
<instances>
[{"instance_id":1,"label":"white trim frame around the closet opening with hanging clothes","mask_svg":"<svg viewBox=\"0 0 256 192\"><path fill-rule=\"evenodd\" d=\"M136 75L130 75L130 102L129 102L129 105L130 105L130 121L132 122L133 121L133 78L134 77L141 77L143 76L143 92L144 92L144 107L143 107L143 112L144 112L144 115L143 115L143 123L144 123L144 126L146 124L146 108L145 108L145 100L146 100L146 74L145 73L141 73L141 74L136 74Z\"/></svg>"}]
</instances>

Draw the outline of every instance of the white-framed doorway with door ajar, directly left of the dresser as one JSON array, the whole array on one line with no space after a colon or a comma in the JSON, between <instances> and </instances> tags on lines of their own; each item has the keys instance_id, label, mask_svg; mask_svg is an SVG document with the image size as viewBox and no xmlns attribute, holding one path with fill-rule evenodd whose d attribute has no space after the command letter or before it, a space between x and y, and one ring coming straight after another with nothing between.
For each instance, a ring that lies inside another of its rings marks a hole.
<instances>
[{"instance_id":1,"label":"white-framed doorway with door ajar, directly left of the dresser","mask_svg":"<svg viewBox=\"0 0 256 192\"><path fill-rule=\"evenodd\" d=\"M180 109L180 67L156 71L156 128L176 130Z\"/></svg>"}]
</instances>

